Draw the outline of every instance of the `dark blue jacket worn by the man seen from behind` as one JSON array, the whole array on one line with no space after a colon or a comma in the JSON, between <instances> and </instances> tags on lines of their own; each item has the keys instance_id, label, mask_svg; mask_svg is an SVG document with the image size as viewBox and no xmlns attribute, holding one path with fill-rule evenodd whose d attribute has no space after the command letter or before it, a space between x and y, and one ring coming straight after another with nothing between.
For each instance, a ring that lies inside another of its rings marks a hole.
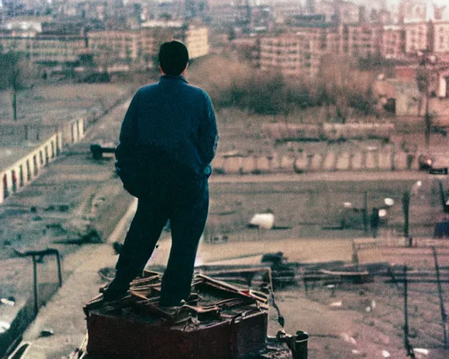
<instances>
[{"instance_id":1,"label":"dark blue jacket worn by the man seen from behind","mask_svg":"<svg viewBox=\"0 0 449 359\"><path fill-rule=\"evenodd\" d=\"M183 76L163 75L135 93L119 140L116 170L122 181L128 177L132 185L145 186L149 178L162 178L170 185L172 176L178 182L209 177L218 141L210 97Z\"/></svg>"}]
</instances>

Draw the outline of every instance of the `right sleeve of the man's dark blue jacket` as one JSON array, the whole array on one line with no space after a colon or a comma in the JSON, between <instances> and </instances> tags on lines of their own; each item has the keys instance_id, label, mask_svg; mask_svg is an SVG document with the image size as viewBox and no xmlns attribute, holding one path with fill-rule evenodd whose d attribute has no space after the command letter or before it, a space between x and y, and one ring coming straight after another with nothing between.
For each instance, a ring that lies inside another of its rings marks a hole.
<instances>
[{"instance_id":1,"label":"right sleeve of the man's dark blue jacket","mask_svg":"<svg viewBox=\"0 0 449 359\"><path fill-rule=\"evenodd\" d=\"M217 121L210 97L205 93L205 116L199 128L199 151L205 165L212 162L218 144Z\"/></svg>"}]
</instances>

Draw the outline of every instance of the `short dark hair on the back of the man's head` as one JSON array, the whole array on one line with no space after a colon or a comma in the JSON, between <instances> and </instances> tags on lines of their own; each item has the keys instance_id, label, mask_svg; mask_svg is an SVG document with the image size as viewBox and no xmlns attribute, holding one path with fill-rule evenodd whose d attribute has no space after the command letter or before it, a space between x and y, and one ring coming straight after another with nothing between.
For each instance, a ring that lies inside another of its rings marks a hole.
<instances>
[{"instance_id":1,"label":"short dark hair on the back of the man's head","mask_svg":"<svg viewBox=\"0 0 449 359\"><path fill-rule=\"evenodd\" d=\"M180 75L189 62L189 52L180 41L164 42L159 49L159 65L168 75Z\"/></svg>"}]
</instances>

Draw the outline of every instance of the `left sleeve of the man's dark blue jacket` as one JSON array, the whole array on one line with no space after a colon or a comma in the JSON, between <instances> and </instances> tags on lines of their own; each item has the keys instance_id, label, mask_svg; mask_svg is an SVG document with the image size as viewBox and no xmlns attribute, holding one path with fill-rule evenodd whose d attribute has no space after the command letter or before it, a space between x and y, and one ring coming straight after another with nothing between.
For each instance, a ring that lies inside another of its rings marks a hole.
<instances>
[{"instance_id":1,"label":"left sleeve of the man's dark blue jacket","mask_svg":"<svg viewBox=\"0 0 449 359\"><path fill-rule=\"evenodd\" d=\"M125 118L123 118L123 123L121 123L119 146L116 147L115 157L116 157L116 168L126 161L126 154L129 153L130 149L133 147L137 140L138 133L138 97L139 91L135 93L133 100L126 111Z\"/></svg>"}]
</instances>

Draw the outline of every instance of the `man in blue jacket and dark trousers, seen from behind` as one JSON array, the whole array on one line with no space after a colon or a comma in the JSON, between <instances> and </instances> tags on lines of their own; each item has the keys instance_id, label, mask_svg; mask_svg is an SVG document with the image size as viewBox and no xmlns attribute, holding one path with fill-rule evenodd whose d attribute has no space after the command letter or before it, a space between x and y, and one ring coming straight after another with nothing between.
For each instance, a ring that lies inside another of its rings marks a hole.
<instances>
[{"instance_id":1,"label":"man in blue jacket and dark trousers, seen from behind","mask_svg":"<svg viewBox=\"0 0 449 359\"><path fill-rule=\"evenodd\" d=\"M177 306L189 297L218 136L208 94L184 78L188 62L183 43L163 43L161 79L138 90L121 125L116 171L138 197L138 209L105 290L107 301L123 297L142 274L168 219L172 245L160 304Z\"/></svg>"}]
</instances>

